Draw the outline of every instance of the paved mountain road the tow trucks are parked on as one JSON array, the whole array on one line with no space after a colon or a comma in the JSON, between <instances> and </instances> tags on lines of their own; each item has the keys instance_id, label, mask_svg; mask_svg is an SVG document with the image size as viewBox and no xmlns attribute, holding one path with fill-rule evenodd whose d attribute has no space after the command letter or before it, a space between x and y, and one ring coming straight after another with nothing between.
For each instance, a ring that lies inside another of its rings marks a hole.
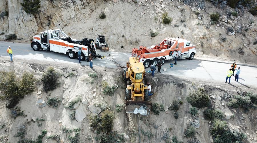
<instances>
[{"instance_id":1,"label":"paved mountain road the tow trucks are parked on","mask_svg":"<svg viewBox=\"0 0 257 143\"><path fill-rule=\"evenodd\" d=\"M13 49L13 60L15 58L23 58L23 59L35 59L42 60L43 63L50 62L61 62L61 63L74 63L79 64L77 59L70 59L67 55L61 53L55 53L52 51L33 51L30 47L30 44L25 43L12 43L12 42L4 42L0 41L0 57L9 57L6 53L7 47L11 46ZM118 65L112 62L112 59L115 59L119 64L126 65L126 61L128 57L130 57L130 53L121 53L121 52L101 52L98 51L100 55L106 55L104 59L93 59L93 65L97 65L100 67L107 68L117 68ZM111 54L111 56L108 56ZM197 54L196 54L197 56ZM18 59L17 59L18 60ZM161 70L161 74L165 76L165 74L177 76L179 78L184 78L186 80L194 82L194 80L208 80L208 81L217 81L217 82L225 82L226 72L230 68L230 64L226 63L217 63L210 61L200 61L200 60L178 60L177 65L173 67L169 67L169 63L174 63L172 61L165 61L163 67L166 67L167 70ZM82 61L81 65L88 65L89 62ZM231 77L231 85L237 86L242 85L246 88L248 86L257 86L257 68L256 67L248 67L248 66L240 66L241 74L239 75L239 82L236 83ZM146 69L146 71L150 70L150 68ZM156 70L157 71L157 70ZM160 74L160 73L156 73Z\"/></svg>"}]
</instances>

